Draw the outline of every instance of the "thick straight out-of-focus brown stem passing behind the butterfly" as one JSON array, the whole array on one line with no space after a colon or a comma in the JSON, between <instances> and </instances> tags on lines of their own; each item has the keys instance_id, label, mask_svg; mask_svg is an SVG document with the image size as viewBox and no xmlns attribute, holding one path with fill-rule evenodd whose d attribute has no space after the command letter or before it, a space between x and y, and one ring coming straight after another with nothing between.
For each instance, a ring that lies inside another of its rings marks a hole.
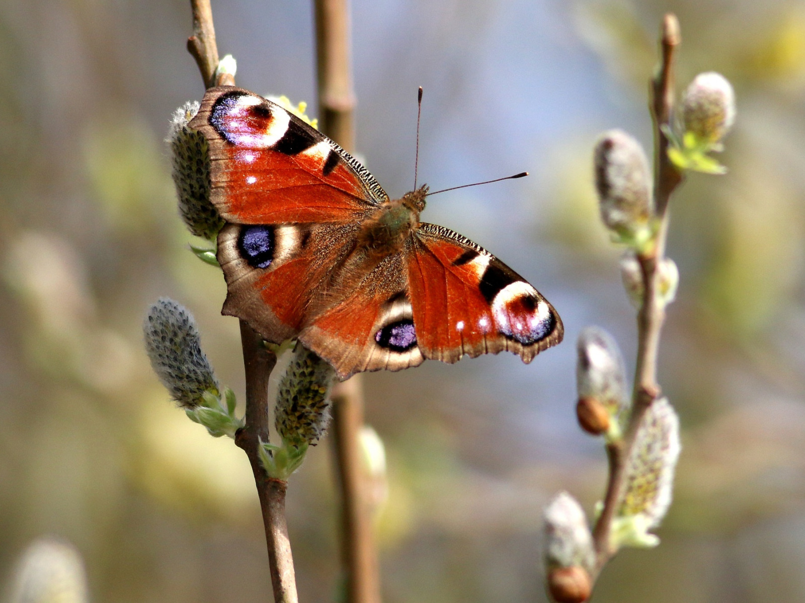
<instances>
[{"instance_id":1,"label":"thick straight out-of-focus brown stem passing behind the butterfly","mask_svg":"<svg viewBox=\"0 0 805 603\"><path fill-rule=\"evenodd\" d=\"M321 131L345 150L355 144L348 0L316 0L316 65ZM341 548L348 603L380 603L380 577L367 480L361 465L361 376L332 393L332 433L341 489Z\"/></svg>"}]
</instances>

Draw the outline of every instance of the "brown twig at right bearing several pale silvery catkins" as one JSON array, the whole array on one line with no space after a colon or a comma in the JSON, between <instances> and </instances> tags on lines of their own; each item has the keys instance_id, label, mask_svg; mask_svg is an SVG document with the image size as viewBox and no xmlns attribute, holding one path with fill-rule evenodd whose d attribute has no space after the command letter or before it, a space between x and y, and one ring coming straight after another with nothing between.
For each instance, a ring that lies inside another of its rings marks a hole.
<instances>
[{"instance_id":1,"label":"brown twig at right bearing several pale silvery catkins","mask_svg":"<svg viewBox=\"0 0 805 603\"><path fill-rule=\"evenodd\" d=\"M670 125L674 110L674 53L679 45L679 22L675 15L663 18L662 63L651 81L650 111L654 120L654 212L659 221L654 248L638 256L643 281L643 302L638 312L638 355L634 371L634 390L629 425L621 441L607 446L609 479L601 510L592 531L596 550L593 580L615 554L610 543L612 522L625 489L625 466L634 445L638 427L650 405L660 396L657 384L657 358L665 310L658 290L658 265L665 258L668 228L668 199L682 181L682 174L668 158L668 140L663 125Z\"/></svg>"}]
</instances>

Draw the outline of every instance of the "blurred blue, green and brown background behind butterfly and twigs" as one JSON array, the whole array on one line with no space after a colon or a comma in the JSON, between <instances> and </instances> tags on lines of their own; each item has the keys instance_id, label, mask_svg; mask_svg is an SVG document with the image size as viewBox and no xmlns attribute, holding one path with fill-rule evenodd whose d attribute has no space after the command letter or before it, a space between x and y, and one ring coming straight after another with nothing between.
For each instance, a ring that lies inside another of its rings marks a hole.
<instances>
[{"instance_id":1,"label":"blurred blue, green and brown background behind butterfly and twigs","mask_svg":"<svg viewBox=\"0 0 805 603\"><path fill-rule=\"evenodd\" d=\"M308 100L311 2L213 2L237 83ZM451 187L423 219L522 273L565 343L365 376L386 443L378 519L386 603L544 601L542 508L601 497L601 442L576 426L575 340L597 324L634 363L619 250L597 219L592 144L621 127L651 148L647 78L663 13L679 16L679 89L731 80L724 177L671 203L679 265L660 383L683 425L659 548L622 552L596 601L805 598L805 4L768 0L353 0L357 150L390 195ZM33 539L72 542L93 601L266 601L248 463L174 408L142 348L147 306L196 315L242 396L221 273L188 251L168 118L204 89L186 0L0 3L0 580ZM337 515L327 438L291 479L300 600L332 601ZM50 550L50 549L48 549ZM30 553L30 550L29 550Z\"/></svg>"}]
</instances>

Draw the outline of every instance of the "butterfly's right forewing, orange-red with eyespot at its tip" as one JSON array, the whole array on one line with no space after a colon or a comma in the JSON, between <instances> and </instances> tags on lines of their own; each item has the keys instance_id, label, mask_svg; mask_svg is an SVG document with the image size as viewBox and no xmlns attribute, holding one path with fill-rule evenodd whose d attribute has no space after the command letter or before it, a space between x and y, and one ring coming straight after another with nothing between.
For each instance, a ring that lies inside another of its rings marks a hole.
<instances>
[{"instance_id":1,"label":"butterfly's right forewing, orange-red with eyespot at its tip","mask_svg":"<svg viewBox=\"0 0 805 603\"><path fill-rule=\"evenodd\" d=\"M427 359L454 363L508 350L530 362L562 340L550 303L469 239L420 224L407 261L414 324Z\"/></svg>"}]
</instances>

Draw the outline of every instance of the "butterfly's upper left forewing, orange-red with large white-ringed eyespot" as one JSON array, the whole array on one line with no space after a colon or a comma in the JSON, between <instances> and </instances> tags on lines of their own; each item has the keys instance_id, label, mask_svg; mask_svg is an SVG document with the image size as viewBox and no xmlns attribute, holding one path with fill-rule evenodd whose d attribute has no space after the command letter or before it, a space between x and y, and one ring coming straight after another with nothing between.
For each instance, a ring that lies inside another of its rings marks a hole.
<instances>
[{"instance_id":1,"label":"butterfly's upper left forewing, orange-red with large white-ringed eyespot","mask_svg":"<svg viewBox=\"0 0 805 603\"><path fill-rule=\"evenodd\" d=\"M227 222L344 222L388 199L335 142L254 92L208 89L189 125L208 141L211 201Z\"/></svg>"}]
</instances>

